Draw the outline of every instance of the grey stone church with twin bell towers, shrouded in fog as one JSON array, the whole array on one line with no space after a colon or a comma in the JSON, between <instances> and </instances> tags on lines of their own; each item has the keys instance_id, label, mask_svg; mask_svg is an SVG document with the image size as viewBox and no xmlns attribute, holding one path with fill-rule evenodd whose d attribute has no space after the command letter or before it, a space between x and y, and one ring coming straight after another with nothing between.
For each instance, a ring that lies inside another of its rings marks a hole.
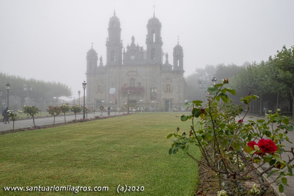
<instances>
[{"instance_id":1,"label":"grey stone church with twin bell towers, shrouded in fog","mask_svg":"<svg viewBox=\"0 0 294 196\"><path fill-rule=\"evenodd\" d=\"M123 47L121 26L115 12L109 20L106 38L106 64L92 48L87 52L87 105L121 107L128 104L170 111L171 105L183 105L187 99L187 84L183 78L183 48L173 48L173 65L165 54L163 63L161 22L148 20L146 50L135 44ZM129 91L129 94L128 94Z\"/></svg>"}]
</instances>

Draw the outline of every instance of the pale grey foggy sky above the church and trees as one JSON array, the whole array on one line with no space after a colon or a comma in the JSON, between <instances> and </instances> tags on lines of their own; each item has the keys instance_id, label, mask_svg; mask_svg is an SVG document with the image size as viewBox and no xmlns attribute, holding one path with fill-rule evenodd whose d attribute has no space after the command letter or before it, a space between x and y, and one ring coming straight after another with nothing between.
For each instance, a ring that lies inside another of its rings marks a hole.
<instances>
[{"instance_id":1,"label":"pale grey foggy sky above the church and trees","mask_svg":"<svg viewBox=\"0 0 294 196\"><path fill-rule=\"evenodd\" d=\"M66 83L73 96L83 90L86 53L93 48L106 63L106 37L113 10L123 46L144 46L153 0L0 0L0 71ZM267 60L294 45L293 0L156 0L163 51L184 52L184 76L206 64ZM4 84L1 84L4 85ZM12 84L11 84L12 85Z\"/></svg>"}]
</instances>

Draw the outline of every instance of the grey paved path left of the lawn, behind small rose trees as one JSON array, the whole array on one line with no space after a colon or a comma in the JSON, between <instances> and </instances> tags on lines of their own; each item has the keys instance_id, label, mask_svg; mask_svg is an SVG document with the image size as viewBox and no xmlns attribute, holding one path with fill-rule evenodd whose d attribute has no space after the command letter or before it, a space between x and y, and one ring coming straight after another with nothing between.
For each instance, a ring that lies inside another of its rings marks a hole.
<instances>
[{"instance_id":1,"label":"grey paved path left of the lawn, behind small rose trees","mask_svg":"<svg viewBox=\"0 0 294 196\"><path fill-rule=\"evenodd\" d=\"M127 113L127 112L124 112ZM95 112L95 116L99 116L101 114L101 112ZM114 113L111 112L110 115L119 115L118 112ZM121 114L123 114L121 112ZM103 116L107 116L107 112L103 112ZM94 113L88 113L88 118L93 118L94 117ZM83 118L83 114L78 114L76 115L77 119ZM35 119L35 125L36 126L40 126L40 125L51 125L53 124L53 119L54 117L47 117L47 118L37 118ZM73 120L75 119L74 115L66 115L65 116L66 122L69 120ZM59 123L64 123L64 115L58 115L55 117L55 124L59 124ZM16 120L14 121L14 129L18 129L18 128L27 128L28 126L33 126L33 119L26 119L26 120ZM0 131L5 131L5 130L12 130L13 128L13 122L10 121L9 124L4 124L2 122L0 122Z\"/></svg>"}]
</instances>

